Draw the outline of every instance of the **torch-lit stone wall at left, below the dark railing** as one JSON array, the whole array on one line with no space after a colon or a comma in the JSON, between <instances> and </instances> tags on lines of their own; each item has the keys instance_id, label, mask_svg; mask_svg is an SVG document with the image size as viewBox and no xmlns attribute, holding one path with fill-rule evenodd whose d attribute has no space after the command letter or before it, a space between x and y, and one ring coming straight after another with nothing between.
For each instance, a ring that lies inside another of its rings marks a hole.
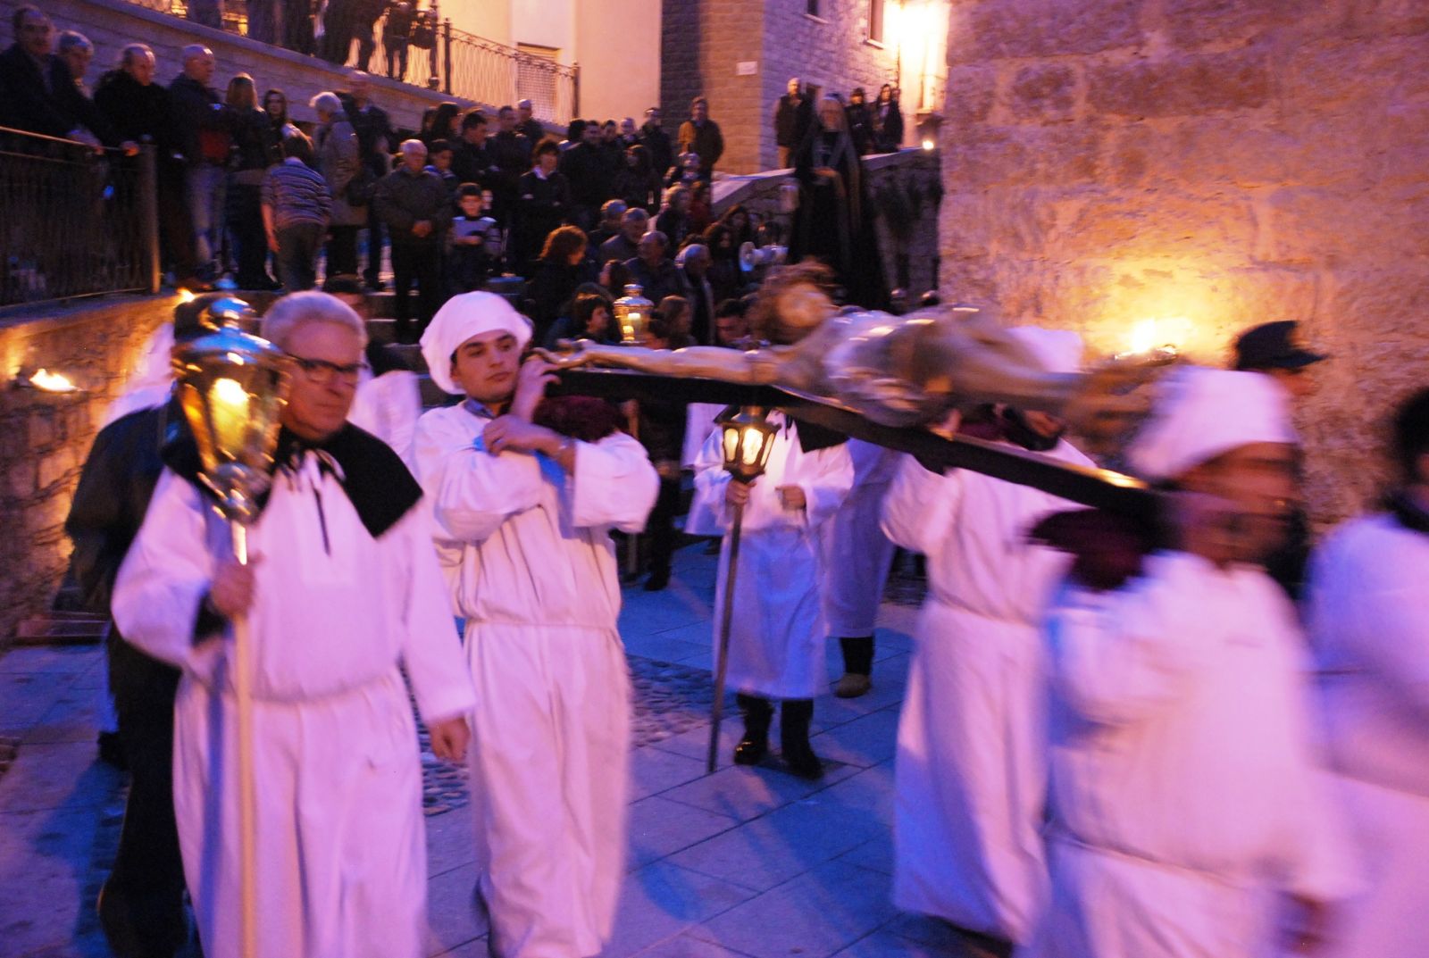
<instances>
[{"instance_id":1,"label":"torch-lit stone wall at left, below the dark railing","mask_svg":"<svg viewBox=\"0 0 1429 958\"><path fill-rule=\"evenodd\" d=\"M0 648L24 618L49 607L70 544L64 515L106 407L120 394L173 297L113 297L0 318ZM36 368L83 387L56 394L23 387Z\"/></svg>"}]
</instances>

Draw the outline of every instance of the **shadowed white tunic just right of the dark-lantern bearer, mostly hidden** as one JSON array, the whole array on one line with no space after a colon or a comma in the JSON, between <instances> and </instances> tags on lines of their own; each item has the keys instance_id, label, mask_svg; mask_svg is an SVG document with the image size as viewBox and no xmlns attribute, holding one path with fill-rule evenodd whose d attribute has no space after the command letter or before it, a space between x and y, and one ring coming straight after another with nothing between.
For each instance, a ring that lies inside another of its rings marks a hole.
<instances>
[{"instance_id":1,"label":"shadowed white tunic just right of the dark-lantern bearer, mostly hidden","mask_svg":"<svg viewBox=\"0 0 1429 958\"><path fill-rule=\"evenodd\" d=\"M853 490L825 527L823 611L829 634L872 635L893 565L893 543L883 534L883 497L899 454L862 440L849 440Z\"/></svg>"}]
</instances>

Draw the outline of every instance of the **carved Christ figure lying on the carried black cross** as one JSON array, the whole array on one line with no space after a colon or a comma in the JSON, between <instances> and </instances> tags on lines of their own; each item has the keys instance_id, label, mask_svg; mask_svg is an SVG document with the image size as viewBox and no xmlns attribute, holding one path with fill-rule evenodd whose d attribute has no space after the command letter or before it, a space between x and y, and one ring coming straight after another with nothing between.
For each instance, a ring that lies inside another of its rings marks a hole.
<instances>
[{"instance_id":1,"label":"carved Christ figure lying on the carried black cross","mask_svg":"<svg viewBox=\"0 0 1429 958\"><path fill-rule=\"evenodd\" d=\"M835 400L896 427L942 423L953 410L979 403L1052 413L1079 431L1099 418L1145 411L1143 397L1113 393L1139 378L1135 370L1047 373L992 316L970 307L902 317L839 313L825 293L826 277L825 267L799 264L765 283L752 307L755 337L769 343L762 348L669 351L579 340L539 353L557 368L619 367L775 385Z\"/></svg>"}]
</instances>

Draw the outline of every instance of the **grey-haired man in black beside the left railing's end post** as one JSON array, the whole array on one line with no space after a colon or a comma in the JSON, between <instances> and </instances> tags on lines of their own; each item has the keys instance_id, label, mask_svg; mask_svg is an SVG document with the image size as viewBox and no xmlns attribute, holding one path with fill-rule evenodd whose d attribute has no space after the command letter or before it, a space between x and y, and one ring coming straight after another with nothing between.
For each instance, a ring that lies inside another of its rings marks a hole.
<instances>
[{"instance_id":1,"label":"grey-haired man in black beside the left railing's end post","mask_svg":"<svg viewBox=\"0 0 1429 958\"><path fill-rule=\"evenodd\" d=\"M123 140L154 147L157 178L159 244L179 286L200 286L196 278L193 221L184 200L184 161L171 123L169 90L154 83L154 51L131 43L120 54L117 70L100 77L94 106Z\"/></svg>"}]
</instances>

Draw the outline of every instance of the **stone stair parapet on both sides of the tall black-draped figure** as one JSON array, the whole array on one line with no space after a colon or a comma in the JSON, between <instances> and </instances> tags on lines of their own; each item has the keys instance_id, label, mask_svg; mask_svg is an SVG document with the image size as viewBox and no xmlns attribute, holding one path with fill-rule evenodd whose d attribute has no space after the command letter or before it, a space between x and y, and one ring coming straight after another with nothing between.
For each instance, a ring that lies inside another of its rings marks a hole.
<instances>
[{"instance_id":1,"label":"stone stair parapet on both sides of the tall black-draped figure","mask_svg":"<svg viewBox=\"0 0 1429 958\"><path fill-rule=\"evenodd\" d=\"M937 286L939 154L936 150L902 150L866 157L863 166L875 207L883 276L889 287L905 286L916 301L925 290ZM714 184L714 214L722 216L740 203L765 218L779 220L787 230L792 217L780 208L779 190L793 181L782 170L719 180ZM900 213L890 216L893 207L900 207ZM896 226L890 223L895 216L899 220ZM905 270L906 276L900 276Z\"/></svg>"}]
</instances>

